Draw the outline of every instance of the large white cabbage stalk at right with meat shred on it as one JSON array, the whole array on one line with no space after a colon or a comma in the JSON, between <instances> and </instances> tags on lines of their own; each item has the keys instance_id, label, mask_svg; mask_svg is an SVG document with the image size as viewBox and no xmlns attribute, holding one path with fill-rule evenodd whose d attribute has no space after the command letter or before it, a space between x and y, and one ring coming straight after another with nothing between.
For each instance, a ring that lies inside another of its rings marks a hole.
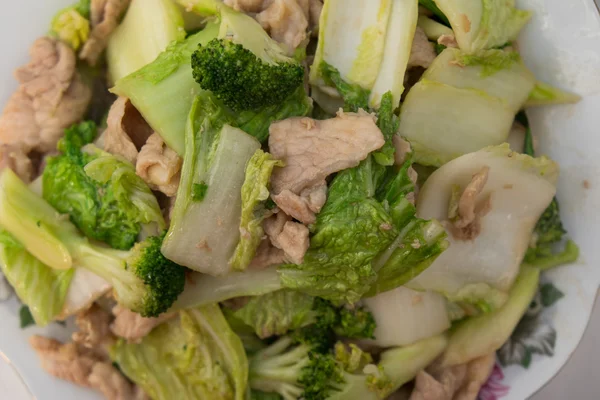
<instances>
[{"instance_id":1,"label":"large white cabbage stalk at right with meat shred on it","mask_svg":"<svg viewBox=\"0 0 600 400\"><path fill-rule=\"evenodd\" d=\"M481 190L464 197L475 174L487 169ZM450 247L407 286L433 290L482 311L506 300L527 251L533 229L556 193L558 165L546 157L517 154L508 144L467 154L435 171L423 186L417 215L436 218L450 232ZM458 199L460 197L460 200ZM469 198L470 197L470 200ZM472 202L473 224L457 231L464 202Z\"/></svg>"}]
</instances>

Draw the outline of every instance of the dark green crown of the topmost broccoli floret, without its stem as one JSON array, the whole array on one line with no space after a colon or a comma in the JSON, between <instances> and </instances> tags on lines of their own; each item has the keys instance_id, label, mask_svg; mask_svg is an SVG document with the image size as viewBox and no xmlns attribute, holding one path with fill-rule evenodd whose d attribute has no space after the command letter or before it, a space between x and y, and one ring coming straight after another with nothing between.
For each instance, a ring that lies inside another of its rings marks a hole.
<instances>
[{"instance_id":1,"label":"dark green crown of the topmost broccoli floret, without its stem","mask_svg":"<svg viewBox=\"0 0 600 400\"><path fill-rule=\"evenodd\" d=\"M304 80L294 62L268 63L242 45L213 39L192 55L194 79L235 111L285 101Z\"/></svg>"}]
</instances>

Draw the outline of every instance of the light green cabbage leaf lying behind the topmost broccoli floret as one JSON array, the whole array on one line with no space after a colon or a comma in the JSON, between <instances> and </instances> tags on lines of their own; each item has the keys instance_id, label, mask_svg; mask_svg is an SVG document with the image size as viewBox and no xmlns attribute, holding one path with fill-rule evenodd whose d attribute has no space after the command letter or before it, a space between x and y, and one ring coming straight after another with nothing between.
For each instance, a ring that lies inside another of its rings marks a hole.
<instances>
[{"instance_id":1,"label":"light green cabbage leaf lying behind the topmost broccoli floret","mask_svg":"<svg viewBox=\"0 0 600 400\"><path fill-rule=\"evenodd\" d=\"M238 127L261 142L269 136L269 126L273 121L306 116L312 112L312 101L303 85L294 88L277 104L265 104L257 109L235 113L214 95L202 90L193 78L192 53L198 46L206 46L216 39L221 28L227 31L227 26L227 21L223 21L222 25L209 22L202 31L183 42L171 44L154 62L119 80L112 89L114 93L128 97L150 126L180 155L184 155L185 151L186 118L198 95L210 98L208 101L214 104L213 111L219 109L216 112L220 114L218 118L222 118L221 124Z\"/></svg>"}]
</instances>

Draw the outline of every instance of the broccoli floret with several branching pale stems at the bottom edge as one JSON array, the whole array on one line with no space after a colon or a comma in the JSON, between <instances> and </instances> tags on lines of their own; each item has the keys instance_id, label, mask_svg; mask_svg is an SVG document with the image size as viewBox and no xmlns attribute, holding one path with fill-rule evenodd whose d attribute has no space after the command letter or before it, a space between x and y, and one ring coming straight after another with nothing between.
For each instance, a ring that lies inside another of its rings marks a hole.
<instances>
[{"instance_id":1,"label":"broccoli floret with several branching pale stems at the bottom edge","mask_svg":"<svg viewBox=\"0 0 600 400\"><path fill-rule=\"evenodd\" d=\"M373 337L375 321L362 308L335 307L315 298L315 322L299 328L256 353L250 360L250 386L276 392L285 400L327 399L345 382L345 370L371 360L358 347L335 344L336 333L346 337ZM348 368L347 368L348 367Z\"/></svg>"}]
</instances>

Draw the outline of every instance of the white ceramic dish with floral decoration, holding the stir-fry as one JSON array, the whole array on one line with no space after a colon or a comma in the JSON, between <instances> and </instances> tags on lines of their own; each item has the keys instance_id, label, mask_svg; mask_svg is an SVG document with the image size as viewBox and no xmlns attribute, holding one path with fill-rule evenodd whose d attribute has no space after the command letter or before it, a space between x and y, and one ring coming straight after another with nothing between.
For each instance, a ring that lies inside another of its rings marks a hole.
<instances>
[{"instance_id":1,"label":"white ceramic dish with floral decoration, holding the stir-fry","mask_svg":"<svg viewBox=\"0 0 600 400\"><path fill-rule=\"evenodd\" d=\"M73 0L20 0L7 3L0 14L0 104L16 88L12 70L28 59L29 45L43 35L56 10ZM557 334L552 357L534 355L527 370L521 366L497 369L481 398L525 399L557 374L575 350L592 311L600 284L600 13L594 0L520 0L535 16L524 30L520 49L537 77L583 96L577 105L548 107L529 112L540 151L561 166L558 197L571 236L581 247L576 265L545 275L564 294L540 316L537 334ZM587 182L584 187L584 181ZM27 339L43 332L59 339L66 328L19 329L18 303L0 303L0 398L21 400L93 400L100 397L46 375ZM533 340L533 339L532 339ZM521 343L538 346L543 341ZM9 361L10 360L10 361ZM19 378L21 377L21 379ZM575 384L575 383L573 383ZM577 385L581 385L577 382ZM583 383L585 384L585 383Z\"/></svg>"}]
</instances>

